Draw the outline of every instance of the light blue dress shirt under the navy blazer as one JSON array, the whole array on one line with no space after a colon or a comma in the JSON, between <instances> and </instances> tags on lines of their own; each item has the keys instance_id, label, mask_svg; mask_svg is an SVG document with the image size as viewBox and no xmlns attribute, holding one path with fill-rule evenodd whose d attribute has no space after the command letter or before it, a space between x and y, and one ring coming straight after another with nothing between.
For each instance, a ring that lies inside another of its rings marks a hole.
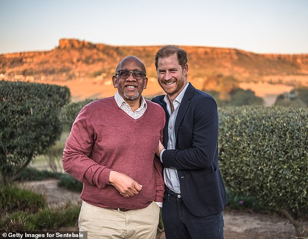
<instances>
[{"instance_id":1,"label":"light blue dress shirt under the navy blazer","mask_svg":"<svg viewBox=\"0 0 308 239\"><path fill-rule=\"evenodd\" d=\"M180 92L180 94L173 100L173 107L174 111L171 112L171 104L168 95L165 96L164 101L167 103L167 111L169 113L169 122L168 122L168 148L167 149L175 149L175 132L174 132L174 124L177 116L177 112L179 111L179 107L181 104L181 101L183 99L183 96L186 92L186 89L188 87L188 83L183 88L183 90ZM162 150L160 153L160 161L163 162L163 153L166 149ZM164 181L166 186L176 192L181 193L180 189L180 181L177 175L176 169L171 168L164 168Z\"/></svg>"}]
</instances>

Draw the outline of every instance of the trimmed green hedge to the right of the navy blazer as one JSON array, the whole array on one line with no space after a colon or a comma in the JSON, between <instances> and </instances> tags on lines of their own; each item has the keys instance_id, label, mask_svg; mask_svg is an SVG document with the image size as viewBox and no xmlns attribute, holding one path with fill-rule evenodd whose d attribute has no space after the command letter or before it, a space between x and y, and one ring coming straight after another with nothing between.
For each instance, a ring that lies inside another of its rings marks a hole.
<instances>
[{"instance_id":1,"label":"trimmed green hedge to the right of the navy blazer","mask_svg":"<svg viewBox=\"0 0 308 239\"><path fill-rule=\"evenodd\" d=\"M220 109L219 158L235 193L274 209L308 212L308 110Z\"/></svg>"}]
</instances>

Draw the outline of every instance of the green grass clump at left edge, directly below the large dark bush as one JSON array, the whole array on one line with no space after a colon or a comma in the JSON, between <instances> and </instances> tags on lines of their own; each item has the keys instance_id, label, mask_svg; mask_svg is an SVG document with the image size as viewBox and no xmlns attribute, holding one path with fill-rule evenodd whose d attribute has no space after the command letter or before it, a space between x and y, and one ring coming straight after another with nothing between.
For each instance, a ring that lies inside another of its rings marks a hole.
<instances>
[{"instance_id":1,"label":"green grass clump at left edge, directly below the large dark bush","mask_svg":"<svg viewBox=\"0 0 308 239\"><path fill-rule=\"evenodd\" d=\"M0 215L15 210L34 213L46 205L46 198L42 194L11 185L0 187Z\"/></svg>"}]
</instances>

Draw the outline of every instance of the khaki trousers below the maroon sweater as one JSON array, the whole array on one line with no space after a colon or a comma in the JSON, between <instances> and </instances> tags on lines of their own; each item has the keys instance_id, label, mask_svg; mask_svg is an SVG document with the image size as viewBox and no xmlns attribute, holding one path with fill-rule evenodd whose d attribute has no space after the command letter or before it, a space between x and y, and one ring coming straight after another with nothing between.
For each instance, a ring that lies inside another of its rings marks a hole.
<instances>
[{"instance_id":1,"label":"khaki trousers below the maroon sweater","mask_svg":"<svg viewBox=\"0 0 308 239\"><path fill-rule=\"evenodd\" d=\"M148 207L126 212L95 207L83 201L79 213L79 231L88 239L155 239L160 208L155 202Z\"/></svg>"}]
</instances>

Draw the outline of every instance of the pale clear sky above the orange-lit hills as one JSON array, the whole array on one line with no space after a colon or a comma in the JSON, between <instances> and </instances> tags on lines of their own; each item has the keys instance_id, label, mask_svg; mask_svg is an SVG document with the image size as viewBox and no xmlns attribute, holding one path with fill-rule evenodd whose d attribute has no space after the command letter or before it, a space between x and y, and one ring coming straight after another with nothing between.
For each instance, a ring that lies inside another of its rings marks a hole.
<instances>
[{"instance_id":1,"label":"pale clear sky above the orange-lit hills","mask_svg":"<svg viewBox=\"0 0 308 239\"><path fill-rule=\"evenodd\" d=\"M60 38L308 53L308 0L0 0L0 53Z\"/></svg>"}]
</instances>

